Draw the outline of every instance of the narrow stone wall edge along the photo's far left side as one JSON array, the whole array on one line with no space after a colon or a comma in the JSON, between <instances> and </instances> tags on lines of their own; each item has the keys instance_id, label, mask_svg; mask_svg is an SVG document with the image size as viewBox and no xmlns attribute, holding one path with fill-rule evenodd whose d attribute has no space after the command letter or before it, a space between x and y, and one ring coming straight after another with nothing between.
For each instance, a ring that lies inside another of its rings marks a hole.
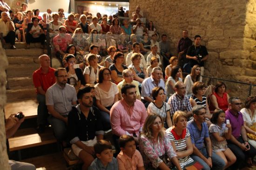
<instances>
[{"instance_id":1,"label":"narrow stone wall edge along the photo's far left side","mask_svg":"<svg viewBox=\"0 0 256 170\"><path fill-rule=\"evenodd\" d=\"M6 135L5 135L5 120L4 120L4 105L6 104L6 72L8 61L5 51L0 42L0 169L11 170L8 164Z\"/></svg>"}]
</instances>

